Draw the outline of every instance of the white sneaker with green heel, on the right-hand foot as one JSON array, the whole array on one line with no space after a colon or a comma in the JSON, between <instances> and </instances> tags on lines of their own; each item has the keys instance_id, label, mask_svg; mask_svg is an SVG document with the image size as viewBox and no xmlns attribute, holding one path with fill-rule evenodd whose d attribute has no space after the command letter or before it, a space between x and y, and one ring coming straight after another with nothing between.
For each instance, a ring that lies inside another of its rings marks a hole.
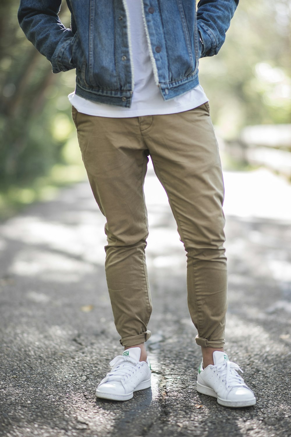
<instances>
[{"instance_id":1,"label":"white sneaker with green heel, on the right-hand foot","mask_svg":"<svg viewBox=\"0 0 291 437\"><path fill-rule=\"evenodd\" d=\"M239 366L229 361L224 352L213 352L214 365L203 369L200 364L197 375L197 391L203 395L217 398L220 405L226 407L246 407L255 405L256 398L243 378L236 370L243 371Z\"/></svg>"}]
</instances>

